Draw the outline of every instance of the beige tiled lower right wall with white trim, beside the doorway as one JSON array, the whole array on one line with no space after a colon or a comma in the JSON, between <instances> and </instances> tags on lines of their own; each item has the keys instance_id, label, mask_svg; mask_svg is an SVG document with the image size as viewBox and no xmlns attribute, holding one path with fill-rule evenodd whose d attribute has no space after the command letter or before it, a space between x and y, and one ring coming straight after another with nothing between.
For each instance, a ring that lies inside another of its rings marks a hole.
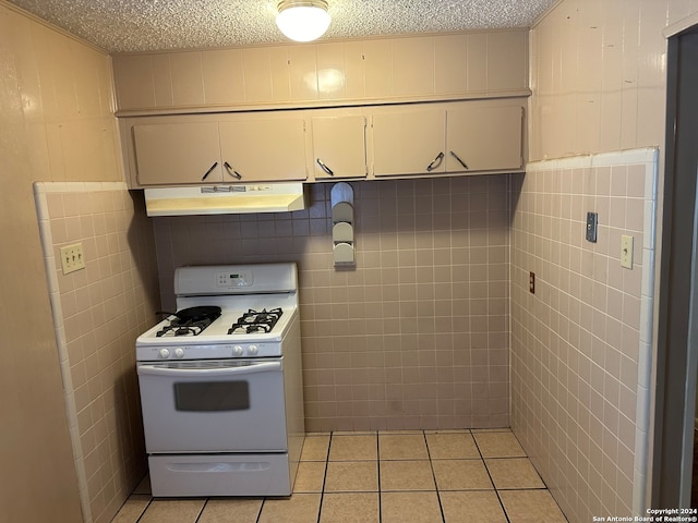
<instances>
[{"instance_id":1,"label":"beige tiled lower right wall with white trim, beside the doorway","mask_svg":"<svg viewBox=\"0 0 698 523\"><path fill-rule=\"evenodd\" d=\"M552 160L530 165L517 194L512 425L570 522L643 514L655 172L651 149Z\"/></svg>"}]
</instances>

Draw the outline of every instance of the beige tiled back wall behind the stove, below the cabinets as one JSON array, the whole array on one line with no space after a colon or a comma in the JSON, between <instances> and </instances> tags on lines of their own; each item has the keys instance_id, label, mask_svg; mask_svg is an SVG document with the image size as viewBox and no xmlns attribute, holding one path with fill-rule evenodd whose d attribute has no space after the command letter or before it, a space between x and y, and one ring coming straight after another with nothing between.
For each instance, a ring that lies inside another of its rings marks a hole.
<instances>
[{"instance_id":1,"label":"beige tiled back wall behind the stove, below the cabinets","mask_svg":"<svg viewBox=\"0 0 698 523\"><path fill-rule=\"evenodd\" d=\"M296 260L308 430L506 427L509 183L351 182L356 270L333 267L329 183L303 211L156 218L164 306L177 266Z\"/></svg>"}]
</instances>

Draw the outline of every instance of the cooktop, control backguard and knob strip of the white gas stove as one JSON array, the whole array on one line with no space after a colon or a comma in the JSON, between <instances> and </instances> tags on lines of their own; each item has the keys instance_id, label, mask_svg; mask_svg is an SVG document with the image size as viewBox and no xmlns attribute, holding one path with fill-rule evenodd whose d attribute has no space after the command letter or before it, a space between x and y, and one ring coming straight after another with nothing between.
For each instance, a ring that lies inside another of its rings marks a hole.
<instances>
[{"instance_id":1,"label":"cooktop, control backguard and knob strip of the white gas stove","mask_svg":"<svg viewBox=\"0 0 698 523\"><path fill-rule=\"evenodd\" d=\"M297 287L292 264L181 267L178 312L139 337L136 360L280 356Z\"/></svg>"}]
</instances>

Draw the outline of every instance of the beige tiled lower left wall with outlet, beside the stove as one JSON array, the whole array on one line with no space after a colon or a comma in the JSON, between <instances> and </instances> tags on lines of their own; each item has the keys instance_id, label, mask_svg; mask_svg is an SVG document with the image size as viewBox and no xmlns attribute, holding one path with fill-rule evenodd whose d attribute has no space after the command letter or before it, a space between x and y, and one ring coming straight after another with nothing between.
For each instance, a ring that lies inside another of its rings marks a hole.
<instances>
[{"instance_id":1,"label":"beige tiled lower left wall with outlet, beside the stove","mask_svg":"<svg viewBox=\"0 0 698 523\"><path fill-rule=\"evenodd\" d=\"M124 183L35 192L83 516L108 523L146 472L134 342L159 308L153 228ZM86 267L63 275L76 242Z\"/></svg>"}]
</instances>

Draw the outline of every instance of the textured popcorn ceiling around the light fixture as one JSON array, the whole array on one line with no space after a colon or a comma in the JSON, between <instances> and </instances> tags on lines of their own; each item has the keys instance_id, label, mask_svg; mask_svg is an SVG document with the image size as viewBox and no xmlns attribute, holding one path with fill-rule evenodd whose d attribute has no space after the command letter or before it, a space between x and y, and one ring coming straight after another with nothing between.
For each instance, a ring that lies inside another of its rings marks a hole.
<instances>
[{"instance_id":1,"label":"textured popcorn ceiling around the light fixture","mask_svg":"<svg viewBox=\"0 0 698 523\"><path fill-rule=\"evenodd\" d=\"M278 0L10 0L110 52L276 44ZM322 39L530 27L558 0L328 0Z\"/></svg>"}]
</instances>

